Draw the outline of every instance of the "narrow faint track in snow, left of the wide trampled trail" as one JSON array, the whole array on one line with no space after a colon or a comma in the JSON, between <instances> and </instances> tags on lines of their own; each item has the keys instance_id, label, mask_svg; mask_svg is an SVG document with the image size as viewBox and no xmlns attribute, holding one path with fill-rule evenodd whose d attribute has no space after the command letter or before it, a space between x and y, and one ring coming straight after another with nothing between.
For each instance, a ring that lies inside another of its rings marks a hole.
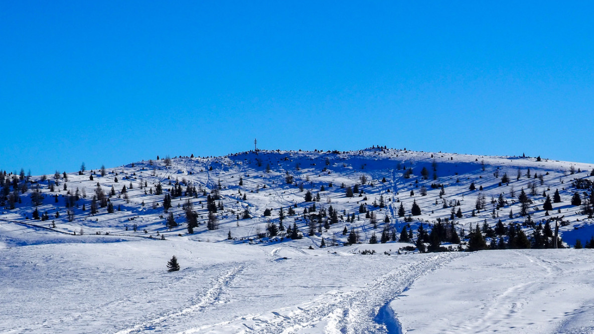
<instances>
[{"instance_id":1,"label":"narrow faint track in snow, left of the wide trampled trail","mask_svg":"<svg viewBox=\"0 0 594 334\"><path fill-rule=\"evenodd\" d=\"M229 286L235 276L238 275L243 269L244 266L236 266L228 270L225 275L219 276L219 278L213 282L212 287L208 289L204 295L198 297L197 300L188 307L182 308L181 310L174 313L165 314L155 319L141 322L132 328L119 330L116 332L116 334L162 332L163 330L166 330L168 323L179 322L179 319L191 316L192 313L201 311L208 307L208 305L212 305L219 301L219 297L223 289Z\"/></svg>"}]
</instances>

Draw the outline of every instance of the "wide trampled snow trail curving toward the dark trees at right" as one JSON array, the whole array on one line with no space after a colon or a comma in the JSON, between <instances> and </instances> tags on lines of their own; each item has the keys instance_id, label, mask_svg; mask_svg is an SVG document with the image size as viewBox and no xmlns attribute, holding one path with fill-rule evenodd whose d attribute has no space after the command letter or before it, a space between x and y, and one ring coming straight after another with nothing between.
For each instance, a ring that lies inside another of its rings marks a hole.
<instances>
[{"instance_id":1,"label":"wide trampled snow trail curving toward the dark trees at right","mask_svg":"<svg viewBox=\"0 0 594 334\"><path fill-rule=\"evenodd\" d=\"M273 253L276 250L273 250ZM260 314L248 314L210 326L180 332L299 333L314 327L326 333L390 333L376 322L380 308L405 291L417 278L463 253L441 253L391 270L361 289L328 291L308 303Z\"/></svg>"}]
</instances>

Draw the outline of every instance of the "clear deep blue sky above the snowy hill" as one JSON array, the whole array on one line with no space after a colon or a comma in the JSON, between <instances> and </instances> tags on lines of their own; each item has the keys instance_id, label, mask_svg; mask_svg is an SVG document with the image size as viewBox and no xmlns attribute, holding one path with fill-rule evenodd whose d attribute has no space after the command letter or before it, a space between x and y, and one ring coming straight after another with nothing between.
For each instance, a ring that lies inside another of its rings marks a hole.
<instances>
[{"instance_id":1,"label":"clear deep blue sky above the snowy hill","mask_svg":"<svg viewBox=\"0 0 594 334\"><path fill-rule=\"evenodd\" d=\"M593 4L2 1L0 169L255 137L594 162Z\"/></svg>"}]
</instances>

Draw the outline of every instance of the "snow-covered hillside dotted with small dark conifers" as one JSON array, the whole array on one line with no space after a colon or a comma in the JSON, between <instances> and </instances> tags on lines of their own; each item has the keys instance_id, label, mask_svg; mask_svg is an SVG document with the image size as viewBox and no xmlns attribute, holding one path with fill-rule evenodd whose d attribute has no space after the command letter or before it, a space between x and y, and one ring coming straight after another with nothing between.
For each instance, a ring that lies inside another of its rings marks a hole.
<instances>
[{"instance_id":1,"label":"snow-covered hillside dotted with small dark conifers","mask_svg":"<svg viewBox=\"0 0 594 334\"><path fill-rule=\"evenodd\" d=\"M380 240L384 228L398 239L405 226L412 232L412 240L416 240L421 223L425 223L426 231L431 231L431 225L438 219L451 223L454 212L454 228L459 233L464 230L465 237L476 224L482 228L486 222L494 228L499 220L506 226L520 223L530 237L532 226L536 227L541 222L544 226L550 218L563 217L565 226L560 228L561 237L567 244L573 245L577 239L585 242L594 234L592 219L582 214L583 207L571 205L574 193L580 194L582 202L589 198L590 190L576 189L572 181L594 180L590 177L593 168L587 163L539 161L535 157L474 156L379 148L354 152L259 151L224 157L173 157L108 168L103 172L104 176L100 169L93 169L69 173L66 178L59 172L49 177L31 177L31 182L24 186L26 192L17 194L15 209L9 210L8 200L4 201L0 219L41 225L68 234L108 233L152 238L181 234L201 241L233 244L290 242L300 247L319 247L322 238L327 245L328 242L336 245L347 242L348 234L343 235L345 227L349 232L353 229L358 234L359 242L369 242L374 232ZM407 172L410 172L409 177ZM509 181L502 183L505 174ZM17 179L14 181L12 178ZM5 182L5 194L9 200L14 194L14 185L21 189L21 184L24 184L18 175L7 175ZM156 194L159 184L162 193ZM471 184L476 190L469 190ZM347 188L352 190L355 187L359 193L347 197ZM31 195L36 188L43 197L39 206L32 204ZM113 213L108 213L108 206L101 207L100 200L97 201L97 212L91 213L97 188L106 194L104 204L113 205ZM175 196L178 189L181 196ZM522 190L531 202L527 215L520 215L522 203L519 202L519 194ZM552 203L553 210L547 212L543 207L545 196L553 198L555 190L559 191L561 202ZM308 191L313 201L305 201ZM163 207L166 195L172 197L169 210ZM503 205L498 201L500 195ZM212 230L207 229L208 196L216 198L214 204L219 207L214 215L217 229ZM481 209L476 209L481 198L484 204L481 204ZM421 215L411 216L412 221L408 219L405 222L411 214L413 202L419 205ZM199 225L194 234L187 231L187 203L191 203L191 211L197 214ZM374 213L375 228L374 219L360 212L361 204L365 211ZM398 215L400 204L405 209L404 217ZM304 210L311 211L312 206L315 206L315 211L304 215ZM330 207L337 212L338 219L334 223L328 212ZM35 209L39 216L47 213L48 220L31 219ZM285 215L283 226L295 223L304 235L302 240L282 238L286 230L279 231L276 237L266 237L268 223L279 225L280 209ZM295 214L288 215L289 209ZM270 210L270 216L266 215L267 210ZM166 226L166 211L173 213L178 226ZM245 212L249 212L250 219L244 219ZM320 213L323 217L318 217ZM355 215L352 221L347 219L351 215ZM533 225L530 220L526 225L528 216L535 222ZM14 227L8 229L11 228ZM228 240L229 232L232 240ZM10 235L3 235L7 234ZM497 237L495 239L498 240ZM490 240L487 238L487 241ZM0 242L10 246L17 241L4 238ZM18 242L34 244L38 241Z\"/></svg>"}]
</instances>

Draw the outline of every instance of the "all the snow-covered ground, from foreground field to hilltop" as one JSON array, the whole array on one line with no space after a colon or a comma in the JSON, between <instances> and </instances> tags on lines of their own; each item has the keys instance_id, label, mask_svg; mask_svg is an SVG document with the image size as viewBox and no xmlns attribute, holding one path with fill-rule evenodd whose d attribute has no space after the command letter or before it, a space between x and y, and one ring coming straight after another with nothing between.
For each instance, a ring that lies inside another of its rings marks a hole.
<instances>
[{"instance_id":1,"label":"all the snow-covered ground, from foreground field to hilltop","mask_svg":"<svg viewBox=\"0 0 594 334\"><path fill-rule=\"evenodd\" d=\"M428 178L421 176L423 167ZM409 168L413 174L405 178ZM452 207L463 214L454 220L457 231L483 222L494 226L499 219L522 223L526 217L518 215L517 202L522 188L536 222L549 218L542 193L552 196L558 189L561 202L549 214L564 217L565 245L584 242L594 225L580 206L570 204L576 192L587 198L571 181L593 180L593 168L533 157L368 149L176 157L169 166L155 160L108 168L105 176L93 170L68 174L68 180L32 177L29 190L18 194L20 203L0 212L0 332L594 333L592 250L418 254L399 252L412 245L403 242L368 244L374 233L379 238L386 229L399 235L405 226L416 239L419 225L428 228L438 218L450 218ZM505 173L510 182L500 185ZM56 181L52 191L50 183ZM159 182L164 193L157 195ZM198 194L173 198L170 212L179 226L167 228L163 197L178 182ZM475 191L469 190L472 182ZM361 196L346 197L343 183L358 183ZM445 194L431 188L434 183L444 185ZM107 194L113 186L109 200L121 210L89 212L97 184ZM37 209L50 216L43 222L30 219L36 185L45 197ZM124 185L127 192L121 193ZM74 195L77 189L80 198L65 207L67 192ZM205 193L217 190L217 204L224 209L217 210L219 229L208 230ZM320 193L317 212L332 206L340 213L338 222L308 223L304 210L314 202L304 202L307 190ZM505 206L497 209L489 198L499 194ZM482 196L485 209L473 216ZM372 206L381 197L385 207ZM188 200L200 222L194 234L185 225ZM408 216L413 201L422 215L404 222L398 206L403 203ZM361 204L375 213L376 229L359 213ZM283 223L298 226L304 238L282 238L283 231L264 235L267 223L280 222L281 207L285 214L295 209ZM241 218L246 209L251 219ZM264 215L266 209L271 216ZM72 221L67 210L74 213ZM356 219L347 221L345 213L355 213ZM345 246L345 228L357 232L362 243ZM532 227L523 229L532 235ZM163 236L166 240L159 240ZM320 248L323 238L334 246ZM376 253L360 254L364 250ZM173 255L182 269L168 273L165 264Z\"/></svg>"}]
</instances>

